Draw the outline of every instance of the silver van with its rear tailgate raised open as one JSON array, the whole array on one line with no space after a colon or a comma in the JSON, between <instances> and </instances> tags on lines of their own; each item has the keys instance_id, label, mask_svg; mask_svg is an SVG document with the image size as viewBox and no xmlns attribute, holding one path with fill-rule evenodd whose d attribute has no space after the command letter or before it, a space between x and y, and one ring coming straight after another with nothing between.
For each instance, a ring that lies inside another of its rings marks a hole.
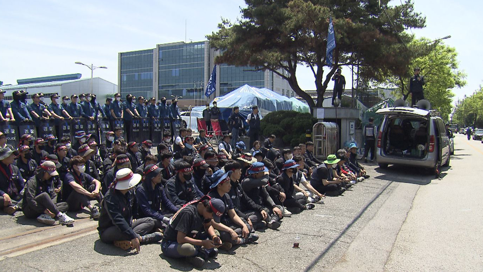
<instances>
[{"instance_id":1,"label":"silver van with its rear tailgate raised open","mask_svg":"<svg viewBox=\"0 0 483 272\"><path fill-rule=\"evenodd\" d=\"M450 164L450 138L444 121L433 111L406 106L376 111L384 115L376 139L376 160L381 168L388 165L432 169Z\"/></svg>"}]
</instances>

